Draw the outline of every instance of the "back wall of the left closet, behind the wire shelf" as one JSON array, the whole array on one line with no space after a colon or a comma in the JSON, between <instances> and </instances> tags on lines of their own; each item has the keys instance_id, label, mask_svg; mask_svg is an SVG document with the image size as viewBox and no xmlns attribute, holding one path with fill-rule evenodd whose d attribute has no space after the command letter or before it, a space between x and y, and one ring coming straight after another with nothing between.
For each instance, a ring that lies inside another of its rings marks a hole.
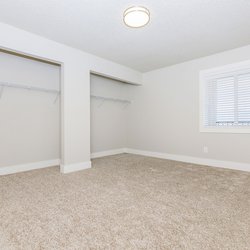
<instances>
[{"instance_id":1,"label":"back wall of the left closet, behind the wire shelf","mask_svg":"<svg viewBox=\"0 0 250 250\"><path fill-rule=\"evenodd\" d=\"M0 82L59 90L60 67L0 52ZM55 94L4 88L0 167L60 159L60 102Z\"/></svg>"}]
</instances>

